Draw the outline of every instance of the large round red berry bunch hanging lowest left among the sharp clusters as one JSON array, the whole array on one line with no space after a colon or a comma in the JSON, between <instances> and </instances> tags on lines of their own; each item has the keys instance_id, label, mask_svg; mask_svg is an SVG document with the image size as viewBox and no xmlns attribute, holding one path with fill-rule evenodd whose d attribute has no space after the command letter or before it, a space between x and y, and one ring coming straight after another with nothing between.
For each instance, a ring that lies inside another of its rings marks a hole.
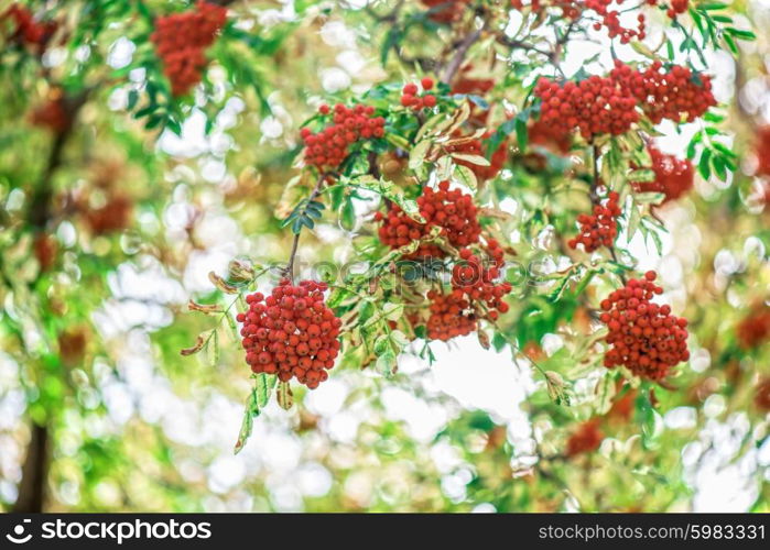
<instances>
[{"instance_id":1,"label":"large round red berry bunch hanging lowest left among the sharp clusters","mask_svg":"<svg viewBox=\"0 0 770 550\"><path fill-rule=\"evenodd\" d=\"M324 302L325 283L283 279L270 296L246 297L248 311L238 314L242 323L246 362L254 373L292 376L314 389L324 382L339 352L341 321Z\"/></svg>"}]
</instances>

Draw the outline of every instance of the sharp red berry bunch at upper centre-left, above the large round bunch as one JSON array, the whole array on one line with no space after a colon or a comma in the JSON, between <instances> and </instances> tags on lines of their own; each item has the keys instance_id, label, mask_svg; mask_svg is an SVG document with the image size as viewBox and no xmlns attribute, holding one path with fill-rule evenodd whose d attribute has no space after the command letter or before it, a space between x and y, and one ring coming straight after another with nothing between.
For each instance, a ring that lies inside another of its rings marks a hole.
<instances>
[{"instance_id":1,"label":"sharp red berry bunch at upper centre-left, above the large round bunch","mask_svg":"<svg viewBox=\"0 0 770 550\"><path fill-rule=\"evenodd\" d=\"M322 105L321 114L332 109ZM382 138L386 120L375 117L375 108L362 105L349 109L341 103L334 106L333 124L318 133L303 128L300 135L305 143L305 162L318 168L334 169L350 154L350 147L362 140Z\"/></svg>"}]
</instances>

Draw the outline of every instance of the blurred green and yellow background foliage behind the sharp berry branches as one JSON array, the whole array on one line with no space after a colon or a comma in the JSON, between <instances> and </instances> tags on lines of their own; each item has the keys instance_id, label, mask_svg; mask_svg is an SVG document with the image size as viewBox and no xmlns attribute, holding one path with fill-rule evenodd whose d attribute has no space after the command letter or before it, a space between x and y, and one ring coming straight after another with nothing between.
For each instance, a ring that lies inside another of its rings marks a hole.
<instances>
[{"instance_id":1,"label":"blurred green and yellow background foliage behind the sharp berry branches","mask_svg":"<svg viewBox=\"0 0 770 550\"><path fill-rule=\"evenodd\" d=\"M650 229L660 250L637 235L623 256L658 268L691 321L692 359L675 387L623 385L600 366L589 307L618 284L609 271L590 285L587 272L558 275L570 265L562 235L587 205L565 187L581 153L511 147L487 193L508 208L522 263L541 262L545 276L517 293L500 334L558 377L545 380L502 336L492 350L473 336L432 344L430 362L415 342L389 380L350 355L321 388L296 389L292 410L270 404L234 455L249 373L227 331L216 353L180 355L210 328L188 298L221 299L208 273L234 257L285 260L280 220L297 196L288 184L299 130L321 103L431 74L474 14L445 25L412 0L227 3L204 80L183 98L149 36L155 16L192 2L20 2L57 23L45 48L15 41L2 21L0 507L770 512L770 345L746 324L770 299L770 180L758 169L770 162L767 32L738 42L737 55L705 52L724 116L709 128L738 154L737 170L701 170L691 195L657 211L668 230ZM511 29L521 21L501 2L478 3ZM723 10L741 29L770 28L767 1ZM662 29L658 15L651 26ZM563 24L543 23L546 37ZM584 36L563 69L606 66L606 45ZM586 63L595 53L601 59ZM486 41L467 62L494 79L485 99L498 121L546 65ZM684 156L703 128L687 127L686 138L662 128L660 142ZM359 257L376 207L305 232L304 264ZM554 384L568 406L552 400Z\"/></svg>"}]
</instances>

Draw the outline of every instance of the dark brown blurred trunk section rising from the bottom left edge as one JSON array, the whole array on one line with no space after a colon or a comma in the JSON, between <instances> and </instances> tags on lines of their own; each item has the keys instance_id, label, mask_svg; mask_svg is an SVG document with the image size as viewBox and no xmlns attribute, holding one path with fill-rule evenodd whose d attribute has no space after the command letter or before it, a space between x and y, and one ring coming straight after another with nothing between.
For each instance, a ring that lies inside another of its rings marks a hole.
<instances>
[{"instance_id":1,"label":"dark brown blurred trunk section rising from the bottom left edge","mask_svg":"<svg viewBox=\"0 0 770 550\"><path fill-rule=\"evenodd\" d=\"M21 469L19 497L12 512L24 514L43 512L51 460L50 441L48 428L33 422L30 444L26 447L26 458Z\"/></svg>"}]
</instances>

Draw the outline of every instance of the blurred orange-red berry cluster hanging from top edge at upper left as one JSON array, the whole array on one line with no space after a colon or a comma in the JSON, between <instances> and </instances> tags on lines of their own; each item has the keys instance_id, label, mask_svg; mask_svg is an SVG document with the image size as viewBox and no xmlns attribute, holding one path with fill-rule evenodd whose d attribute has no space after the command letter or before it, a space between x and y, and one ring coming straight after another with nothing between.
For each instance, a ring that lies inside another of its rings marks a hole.
<instances>
[{"instance_id":1,"label":"blurred orange-red berry cluster hanging from top edge at upper left","mask_svg":"<svg viewBox=\"0 0 770 550\"><path fill-rule=\"evenodd\" d=\"M150 40L163 61L163 73L174 96L184 96L202 78L205 52L227 21L227 9L198 0L195 11L172 13L155 20Z\"/></svg>"}]
</instances>

